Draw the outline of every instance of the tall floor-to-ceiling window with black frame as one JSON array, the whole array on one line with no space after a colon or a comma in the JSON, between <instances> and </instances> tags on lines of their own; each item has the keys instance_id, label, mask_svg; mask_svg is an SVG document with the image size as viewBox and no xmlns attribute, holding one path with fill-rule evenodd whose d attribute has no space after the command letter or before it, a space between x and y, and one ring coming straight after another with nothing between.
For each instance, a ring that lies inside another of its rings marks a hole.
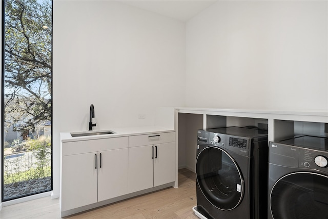
<instances>
[{"instance_id":1,"label":"tall floor-to-ceiling window with black frame","mask_svg":"<svg viewBox=\"0 0 328 219\"><path fill-rule=\"evenodd\" d=\"M4 0L2 199L52 190L52 1Z\"/></svg>"}]
</instances>

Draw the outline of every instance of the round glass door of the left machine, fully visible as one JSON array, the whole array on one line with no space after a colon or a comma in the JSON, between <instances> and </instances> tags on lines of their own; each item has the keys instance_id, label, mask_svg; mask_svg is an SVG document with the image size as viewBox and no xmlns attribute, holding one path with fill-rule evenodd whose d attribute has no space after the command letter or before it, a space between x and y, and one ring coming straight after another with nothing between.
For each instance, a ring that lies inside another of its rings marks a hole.
<instances>
[{"instance_id":1,"label":"round glass door of the left machine, fully visible","mask_svg":"<svg viewBox=\"0 0 328 219\"><path fill-rule=\"evenodd\" d=\"M244 183L233 157L217 147L204 148L196 161L197 183L216 208L232 210L242 200Z\"/></svg>"}]
</instances>

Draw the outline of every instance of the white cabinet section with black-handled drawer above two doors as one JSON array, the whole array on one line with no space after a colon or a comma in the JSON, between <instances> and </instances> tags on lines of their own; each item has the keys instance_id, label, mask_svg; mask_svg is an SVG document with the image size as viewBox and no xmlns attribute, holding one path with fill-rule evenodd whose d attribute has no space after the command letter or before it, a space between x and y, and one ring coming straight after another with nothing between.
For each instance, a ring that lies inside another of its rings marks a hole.
<instances>
[{"instance_id":1,"label":"white cabinet section with black-handled drawer above two doors","mask_svg":"<svg viewBox=\"0 0 328 219\"><path fill-rule=\"evenodd\" d=\"M129 193L175 181L175 132L129 136Z\"/></svg>"}]
</instances>

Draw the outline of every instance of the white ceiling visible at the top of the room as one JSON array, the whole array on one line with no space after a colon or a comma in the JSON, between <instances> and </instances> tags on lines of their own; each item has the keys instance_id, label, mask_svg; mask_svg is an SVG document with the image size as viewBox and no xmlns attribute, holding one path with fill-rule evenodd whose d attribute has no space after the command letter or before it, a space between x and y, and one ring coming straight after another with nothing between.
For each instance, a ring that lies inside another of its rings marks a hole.
<instances>
[{"instance_id":1,"label":"white ceiling visible at the top of the room","mask_svg":"<svg viewBox=\"0 0 328 219\"><path fill-rule=\"evenodd\" d=\"M217 0L133 0L120 2L186 22L216 3Z\"/></svg>"}]
</instances>

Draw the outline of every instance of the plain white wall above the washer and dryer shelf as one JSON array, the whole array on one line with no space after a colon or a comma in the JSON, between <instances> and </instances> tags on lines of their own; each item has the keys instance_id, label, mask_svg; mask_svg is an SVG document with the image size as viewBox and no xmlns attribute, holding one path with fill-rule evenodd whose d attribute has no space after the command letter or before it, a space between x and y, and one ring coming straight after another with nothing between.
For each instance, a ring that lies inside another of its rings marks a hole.
<instances>
[{"instance_id":1,"label":"plain white wall above the washer and dryer shelf","mask_svg":"<svg viewBox=\"0 0 328 219\"><path fill-rule=\"evenodd\" d=\"M187 106L327 111L327 9L219 1L202 11L186 27Z\"/></svg>"}]
</instances>

